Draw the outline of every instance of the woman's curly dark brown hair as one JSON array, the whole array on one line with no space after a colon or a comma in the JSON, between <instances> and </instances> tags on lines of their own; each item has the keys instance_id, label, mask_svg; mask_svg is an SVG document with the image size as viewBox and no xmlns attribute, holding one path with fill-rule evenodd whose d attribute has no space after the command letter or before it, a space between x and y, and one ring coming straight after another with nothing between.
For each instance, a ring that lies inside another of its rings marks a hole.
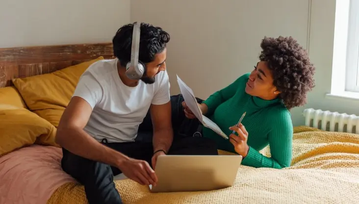
<instances>
[{"instance_id":1,"label":"woman's curly dark brown hair","mask_svg":"<svg viewBox=\"0 0 359 204\"><path fill-rule=\"evenodd\" d=\"M307 103L307 93L314 87L315 67L308 53L292 37L264 37L259 55L268 63L273 84L281 92L279 98L291 109Z\"/></svg>"}]
</instances>

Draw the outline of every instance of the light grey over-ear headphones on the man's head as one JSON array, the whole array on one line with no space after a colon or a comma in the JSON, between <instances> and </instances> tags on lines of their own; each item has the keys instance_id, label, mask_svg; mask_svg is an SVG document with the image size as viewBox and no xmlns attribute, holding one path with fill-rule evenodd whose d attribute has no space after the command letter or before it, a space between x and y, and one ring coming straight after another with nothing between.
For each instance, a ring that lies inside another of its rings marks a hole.
<instances>
[{"instance_id":1,"label":"light grey over-ear headphones on the man's head","mask_svg":"<svg viewBox=\"0 0 359 204\"><path fill-rule=\"evenodd\" d=\"M131 61L126 64L126 76L130 79L140 79L146 71L145 64L138 60L140 47L140 26L135 23L132 32Z\"/></svg>"}]
</instances>

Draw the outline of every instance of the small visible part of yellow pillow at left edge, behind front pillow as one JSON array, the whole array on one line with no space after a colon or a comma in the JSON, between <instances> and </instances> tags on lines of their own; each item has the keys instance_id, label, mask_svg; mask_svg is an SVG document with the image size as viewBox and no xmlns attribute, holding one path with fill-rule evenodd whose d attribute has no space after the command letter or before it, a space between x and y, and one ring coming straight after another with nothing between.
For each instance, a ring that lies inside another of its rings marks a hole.
<instances>
[{"instance_id":1,"label":"small visible part of yellow pillow at left edge, behind front pillow","mask_svg":"<svg viewBox=\"0 0 359 204\"><path fill-rule=\"evenodd\" d=\"M14 86L0 88L0 104L26 108L24 100Z\"/></svg>"}]
</instances>

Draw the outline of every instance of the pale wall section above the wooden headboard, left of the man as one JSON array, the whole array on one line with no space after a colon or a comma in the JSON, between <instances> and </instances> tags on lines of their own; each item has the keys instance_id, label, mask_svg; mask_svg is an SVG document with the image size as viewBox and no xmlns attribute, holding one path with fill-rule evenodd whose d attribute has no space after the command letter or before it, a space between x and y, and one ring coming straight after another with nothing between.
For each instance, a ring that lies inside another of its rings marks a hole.
<instances>
[{"instance_id":1,"label":"pale wall section above the wooden headboard, left of the man","mask_svg":"<svg viewBox=\"0 0 359 204\"><path fill-rule=\"evenodd\" d=\"M130 0L1 0L0 48L110 42Z\"/></svg>"}]
</instances>

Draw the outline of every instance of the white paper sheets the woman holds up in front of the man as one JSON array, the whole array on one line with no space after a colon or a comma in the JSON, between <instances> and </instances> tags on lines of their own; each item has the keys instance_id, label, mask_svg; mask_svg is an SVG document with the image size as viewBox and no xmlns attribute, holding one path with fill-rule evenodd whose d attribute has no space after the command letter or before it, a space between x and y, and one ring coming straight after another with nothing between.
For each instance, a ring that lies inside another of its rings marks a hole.
<instances>
[{"instance_id":1,"label":"white paper sheets the woman holds up in front of the man","mask_svg":"<svg viewBox=\"0 0 359 204\"><path fill-rule=\"evenodd\" d=\"M228 139L228 136L209 118L205 117L202 114L200 107L198 106L196 97L191 88L185 84L180 77L177 75L177 82L180 86L180 91L183 96L184 101L186 102L188 108L192 111L192 113L196 116L196 118L206 127L210 128L215 131L217 134L221 135L222 137Z\"/></svg>"}]
</instances>

